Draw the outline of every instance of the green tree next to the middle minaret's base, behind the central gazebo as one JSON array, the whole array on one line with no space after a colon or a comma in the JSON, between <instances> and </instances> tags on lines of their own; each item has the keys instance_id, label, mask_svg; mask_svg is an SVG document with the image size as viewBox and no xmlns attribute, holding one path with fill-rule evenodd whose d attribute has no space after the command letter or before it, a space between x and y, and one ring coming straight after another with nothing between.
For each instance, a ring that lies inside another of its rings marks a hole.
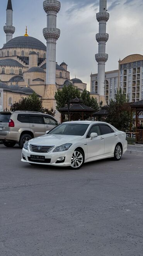
<instances>
[{"instance_id":1,"label":"green tree next to the middle minaret's base, behind the central gazebo","mask_svg":"<svg viewBox=\"0 0 143 256\"><path fill-rule=\"evenodd\" d=\"M69 86L63 86L62 90L58 90L54 96L56 100L56 109L65 107L65 104L68 103L68 100L73 98L80 98L80 91L75 88L72 84Z\"/></svg>"}]
</instances>

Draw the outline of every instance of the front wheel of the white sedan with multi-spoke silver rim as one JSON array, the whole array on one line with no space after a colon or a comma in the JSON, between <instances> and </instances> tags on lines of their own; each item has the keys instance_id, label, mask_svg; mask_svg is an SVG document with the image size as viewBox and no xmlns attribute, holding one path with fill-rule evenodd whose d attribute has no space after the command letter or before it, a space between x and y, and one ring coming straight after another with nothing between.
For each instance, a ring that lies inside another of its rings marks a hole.
<instances>
[{"instance_id":1,"label":"front wheel of the white sedan with multi-spoke silver rim","mask_svg":"<svg viewBox=\"0 0 143 256\"><path fill-rule=\"evenodd\" d=\"M78 170L84 164L84 153L80 149L75 149L72 154L70 169Z\"/></svg>"}]
</instances>

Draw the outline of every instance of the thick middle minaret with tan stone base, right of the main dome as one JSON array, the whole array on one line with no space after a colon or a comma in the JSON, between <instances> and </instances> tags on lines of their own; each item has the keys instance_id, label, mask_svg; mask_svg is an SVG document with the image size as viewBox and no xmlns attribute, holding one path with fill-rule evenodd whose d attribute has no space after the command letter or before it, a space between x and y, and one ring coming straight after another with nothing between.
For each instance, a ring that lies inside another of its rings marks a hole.
<instances>
[{"instance_id":1,"label":"thick middle minaret with tan stone base, right of the main dome","mask_svg":"<svg viewBox=\"0 0 143 256\"><path fill-rule=\"evenodd\" d=\"M46 89L44 92L43 105L48 104L48 107L54 107L55 109L56 41L60 37L60 29L56 28L56 18L57 13L60 11L61 3L57 0L45 0L43 2L43 8L47 14L47 28L43 29L43 35L47 41Z\"/></svg>"}]
</instances>

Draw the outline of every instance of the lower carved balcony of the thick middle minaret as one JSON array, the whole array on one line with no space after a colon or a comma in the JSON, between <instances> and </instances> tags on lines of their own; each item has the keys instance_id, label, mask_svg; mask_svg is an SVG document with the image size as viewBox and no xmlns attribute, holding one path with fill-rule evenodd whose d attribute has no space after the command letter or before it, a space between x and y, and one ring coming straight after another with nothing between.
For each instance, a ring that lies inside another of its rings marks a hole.
<instances>
[{"instance_id":1,"label":"lower carved balcony of the thick middle minaret","mask_svg":"<svg viewBox=\"0 0 143 256\"><path fill-rule=\"evenodd\" d=\"M58 40L60 37L60 29L58 28L43 28L43 35L46 40Z\"/></svg>"}]
</instances>

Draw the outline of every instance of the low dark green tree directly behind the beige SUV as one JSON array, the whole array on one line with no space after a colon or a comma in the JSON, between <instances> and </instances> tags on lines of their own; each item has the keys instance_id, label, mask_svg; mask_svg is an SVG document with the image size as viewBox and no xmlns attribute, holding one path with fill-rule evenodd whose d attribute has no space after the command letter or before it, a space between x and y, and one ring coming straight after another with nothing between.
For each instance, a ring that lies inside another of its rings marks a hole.
<instances>
[{"instance_id":1,"label":"low dark green tree directly behind the beige SUV","mask_svg":"<svg viewBox=\"0 0 143 256\"><path fill-rule=\"evenodd\" d=\"M36 93L29 95L27 98L22 97L19 102L15 102L11 107L11 111L21 110L21 111L36 111L54 116L56 111L51 108L47 109L42 107L42 99L39 99Z\"/></svg>"}]
</instances>

